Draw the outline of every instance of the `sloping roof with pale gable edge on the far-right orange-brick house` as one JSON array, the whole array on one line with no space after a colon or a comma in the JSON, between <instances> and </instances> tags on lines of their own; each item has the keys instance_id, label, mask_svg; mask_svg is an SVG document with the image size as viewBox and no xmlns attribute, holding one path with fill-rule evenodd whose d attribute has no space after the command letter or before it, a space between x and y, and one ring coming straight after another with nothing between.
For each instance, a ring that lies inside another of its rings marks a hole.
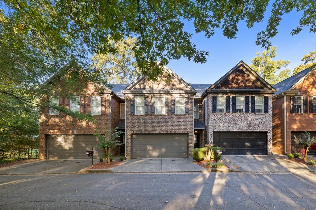
<instances>
[{"instance_id":1,"label":"sloping roof with pale gable edge on the far-right orange-brick house","mask_svg":"<svg viewBox=\"0 0 316 210\"><path fill-rule=\"evenodd\" d=\"M298 85L302 80L305 79L305 77L307 77L313 72L312 70L315 70L315 67L316 65L312 65L311 67L283 80L282 82L273 85L273 87L277 90L274 96L295 88L296 85Z\"/></svg>"}]
</instances>

